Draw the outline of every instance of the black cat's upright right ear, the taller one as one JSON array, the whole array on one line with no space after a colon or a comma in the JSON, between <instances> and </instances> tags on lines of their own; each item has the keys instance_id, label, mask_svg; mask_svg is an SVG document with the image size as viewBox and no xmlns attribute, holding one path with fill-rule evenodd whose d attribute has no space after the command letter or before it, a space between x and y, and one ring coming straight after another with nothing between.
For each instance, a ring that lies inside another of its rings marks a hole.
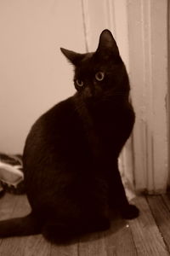
<instances>
[{"instance_id":1,"label":"black cat's upright right ear, the taller one","mask_svg":"<svg viewBox=\"0 0 170 256\"><path fill-rule=\"evenodd\" d=\"M113 38L111 31L108 29L105 29L103 32L101 32L99 37L99 46L97 51L105 51L110 50L114 53L114 55L119 55L119 49L116 45L116 41Z\"/></svg>"}]
</instances>

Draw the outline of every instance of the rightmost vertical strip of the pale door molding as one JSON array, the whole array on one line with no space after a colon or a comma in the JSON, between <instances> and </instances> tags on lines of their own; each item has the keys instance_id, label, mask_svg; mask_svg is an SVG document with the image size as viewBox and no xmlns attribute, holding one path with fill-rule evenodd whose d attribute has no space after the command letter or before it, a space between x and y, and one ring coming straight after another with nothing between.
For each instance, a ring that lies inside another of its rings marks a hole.
<instances>
[{"instance_id":1,"label":"rightmost vertical strip of the pale door molding","mask_svg":"<svg viewBox=\"0 0 170 256\"><path fill-rule=\"evenodd\" d=\"M154 185L167 188L167 0L150 0L151 62L153 87ZM158 19L158 17L160 17Z\"/></svg>"}]
</instances>

